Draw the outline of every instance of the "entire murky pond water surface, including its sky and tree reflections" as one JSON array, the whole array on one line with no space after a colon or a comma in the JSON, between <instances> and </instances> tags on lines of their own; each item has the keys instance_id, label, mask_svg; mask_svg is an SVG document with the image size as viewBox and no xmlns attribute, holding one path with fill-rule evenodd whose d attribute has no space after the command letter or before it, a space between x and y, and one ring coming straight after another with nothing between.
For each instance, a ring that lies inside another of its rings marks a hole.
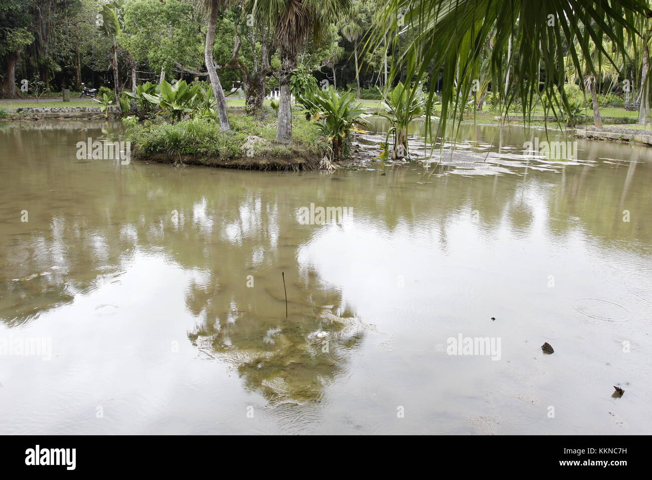
<instances>
[{"instance_id":1,"label":"entire murky pond water surface, including its sky and tree reflections","mask_svg":"<svg viewBox=\"0 0 652 480\"><path fill-rule=\"evenodd\" d=\"M427 171L77 159L116 129L0 124L0 433L651 432L652 150L466 126Z\"/></svg>"}]
</instances>

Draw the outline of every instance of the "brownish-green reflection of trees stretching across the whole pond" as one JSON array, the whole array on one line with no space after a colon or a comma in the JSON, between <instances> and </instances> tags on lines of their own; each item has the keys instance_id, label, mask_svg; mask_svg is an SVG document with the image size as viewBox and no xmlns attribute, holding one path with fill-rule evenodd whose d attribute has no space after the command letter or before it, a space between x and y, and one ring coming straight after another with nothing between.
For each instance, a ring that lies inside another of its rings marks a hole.
<instances>
[{"instance_id":1,"label":"brownish-green reflection of trees stretching across the whole pond","mask_svg":"<svg viewBox=\"0 0 652 480\"><path fill-rule=\"evenodd\" d=\"M636 149L629 159L642 163L525 175L426 178L411 165L387 176L327 176L78 161L76 142L104 135L97 129L0 135L0 153L20 161L9 163L0 180L5 324L20 325L119 276L138 249L156 251L193 272L185 302L197 323L189 340L203 355L231 362L246 386L269 400L318 400L323 385L346 372L363 338L338 290L297 260L299 246L320 228L297 221L297 209L310 202L352 207L354 217L385 234L435 229L439 244L432 248L445 248L456 222L477 221L482 234L498 238L505 228L531 232L535 214L546 217L554 236L579 223L596 242L652 240L640 221L652 202L644 184L652 166ZM587 148L593 161L623 155L612 144ZM23 208L29 223L18 220ZM622 221L625 209L630 223ZM249 275L254 287L247 286Z\"/></svg>"}]
</instances>

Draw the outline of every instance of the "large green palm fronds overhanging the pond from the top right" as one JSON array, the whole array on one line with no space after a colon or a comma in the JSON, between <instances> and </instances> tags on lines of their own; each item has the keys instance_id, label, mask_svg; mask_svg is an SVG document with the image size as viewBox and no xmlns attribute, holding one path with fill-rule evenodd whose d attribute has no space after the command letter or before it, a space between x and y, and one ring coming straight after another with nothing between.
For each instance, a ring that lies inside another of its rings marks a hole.
<instances>
[{"instance_id":1,"label":"large green palm fronds overhanging the pond from the top right","mask_svg":"<svg viewBox=\"0 0 652 480\"><path fill-rule=\"evenodd\" d=\"M491 83L506 84L503 54L511 47L518 61L509 64L509 75L514 80L505 100L509 104L520 99L524 116L529 116L537 104L540 86L551 97L559 93L563 104L569 106L563 89L566 52L578 71L582 71L578 59L578 52L582 52L589 57L589 71L595 72L589 41L595 43L607 61L611 58L605 48L607 40L617 52L625 52L627 40L637 35L636 17L652 13L648 3L648 0L387 0L378 24L391 24L397 12L408 8L404 23L415 29L415 33L393 66L392 74L396 76L398 69L406 66L406 78L429 81L426 113L434 103L437 81L441 82L439 133L445 128L451 106L456 110L464 105L459 99L471 89L474 66L492 29L495 44L490 61ZM392 28L398 29L396 22ZM385 31L376 31L367 48L381 44L384 36ZM456 65L459 65L458 88L455 88ZM544 76L540 74L541 67L546 72Z\"/></svg>"}]
</instances>

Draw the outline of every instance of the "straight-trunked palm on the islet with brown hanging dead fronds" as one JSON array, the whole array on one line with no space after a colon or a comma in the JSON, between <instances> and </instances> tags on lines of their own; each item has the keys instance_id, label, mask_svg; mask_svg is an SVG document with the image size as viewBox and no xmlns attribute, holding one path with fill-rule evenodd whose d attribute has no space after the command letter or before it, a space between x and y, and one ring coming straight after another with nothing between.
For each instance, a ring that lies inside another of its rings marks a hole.
<instances>
[{"instance_id":1,"label":"straight-trunked palm on the islet with brown hanging dead fronds","mask_svg":"<svg viewBox=\"0 0 652 480\"><path fill-rule=\"evenodd\" d=\"M310 35L316 42L325 39L327 25L348 14L351 0L248 0L246 12L254 14L254 22L266 22L274 28L274 43L281 66L278 71L280 99L276 141L292 141L292 112L289 80L297 67L297 56Z\"/></svg>"}]
</instances>

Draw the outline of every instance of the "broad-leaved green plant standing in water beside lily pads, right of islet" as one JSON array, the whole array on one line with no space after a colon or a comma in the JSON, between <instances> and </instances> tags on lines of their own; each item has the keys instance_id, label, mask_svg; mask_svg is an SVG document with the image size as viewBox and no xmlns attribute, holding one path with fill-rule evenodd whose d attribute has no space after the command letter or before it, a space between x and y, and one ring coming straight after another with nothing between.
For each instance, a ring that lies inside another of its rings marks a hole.
<instances>
[{"instance_id":1,"label":"broad-leaved green plant standing in water beside lily pads, right of islet","mask_svg":"<svg viewBox=\"0 0 652 480\"><path fill-rule=\"evenodd\" d=\"M408 157L408 125L422 115L425 103L426 97L421 89L409 88L402 82L398 82L391 93L385 96L385 106L389 111L387 114L378 113L378 115L387 118L391 127L387 131L385 142L381 144L380 159L389 159L390 135L393 135L392 159Z\"/></svg>"}]
</instances>

